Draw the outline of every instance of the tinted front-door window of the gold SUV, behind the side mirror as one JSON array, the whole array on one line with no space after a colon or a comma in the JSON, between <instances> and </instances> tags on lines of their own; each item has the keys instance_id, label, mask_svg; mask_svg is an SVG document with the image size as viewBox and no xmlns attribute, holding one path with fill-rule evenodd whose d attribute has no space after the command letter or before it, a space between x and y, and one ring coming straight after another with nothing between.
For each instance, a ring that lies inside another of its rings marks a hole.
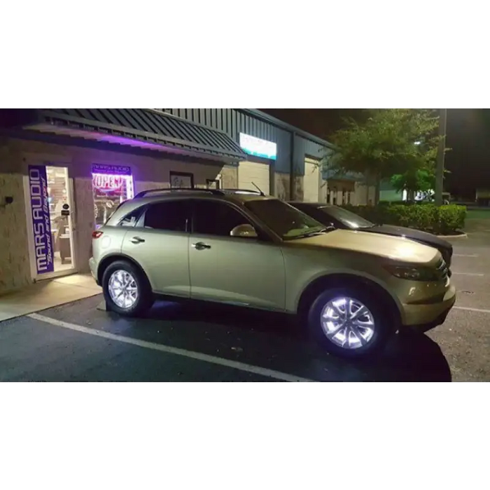
<instances>
[{"instance_id":1,"label":"tinted front-door window of the gold SUV, behind the side mirror","mask_svg":"<svg viewBox=\"0 0 490 490\"><path fill-rule=\"evenodd\" d=\"M193 232L199 235L230 237L233 228L248 223L247 218L224 202L195 202Z\"/></svg>"}]
</instances>

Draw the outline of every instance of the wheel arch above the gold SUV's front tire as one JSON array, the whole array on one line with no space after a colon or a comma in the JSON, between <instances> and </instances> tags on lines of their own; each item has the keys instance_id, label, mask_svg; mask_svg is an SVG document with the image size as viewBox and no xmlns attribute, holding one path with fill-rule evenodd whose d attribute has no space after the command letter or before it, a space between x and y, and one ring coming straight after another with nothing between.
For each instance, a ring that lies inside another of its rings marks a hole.
<instances>
[{"instance_id":1,"label":"wheel arch above the gold SUV's front tire","mask_svg":"<svg viewBox=\"0 0 490 490\"><path fill-rule=\"evenodd\" d=\"M388 292L388 290L386 290L386 288L381 286L376 281L368 279L367 277L346 273L328 274L327 276L321 276L314 279L314 281L311 281L311 283L304 288L302 295L300 296L300 300L297 304L297 313L300 315L307 314L311 303L314 302L316 297L318 297L323 290L327 288L338 288L345 286L369 288L369 290L374 291L374 294L376 294L380 299L386 301L393 321L400 323L402 320L403 311L401 304L395 297L393 297L393 295L391 295L391 293Z\"/></svg>"}]
</instances>

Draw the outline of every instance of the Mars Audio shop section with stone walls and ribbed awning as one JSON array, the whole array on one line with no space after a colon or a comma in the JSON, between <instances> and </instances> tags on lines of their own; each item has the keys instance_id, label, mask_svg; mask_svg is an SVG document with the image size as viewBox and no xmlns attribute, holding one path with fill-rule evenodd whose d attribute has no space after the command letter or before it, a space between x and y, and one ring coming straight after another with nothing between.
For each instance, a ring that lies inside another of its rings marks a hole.
<instances>
[{"instance_id":1,"label":"Mars Audio shop section with stone walls and ribbed awning","mask_svg":"<svg viewBox=\"0 0 490 490\"><path fill-rule=\"evenodd\" d=\"M141 107L0 111L0 294L88 272L92 232L151 188L238 187L227 134Z\"/></svg>"}]
</instances>

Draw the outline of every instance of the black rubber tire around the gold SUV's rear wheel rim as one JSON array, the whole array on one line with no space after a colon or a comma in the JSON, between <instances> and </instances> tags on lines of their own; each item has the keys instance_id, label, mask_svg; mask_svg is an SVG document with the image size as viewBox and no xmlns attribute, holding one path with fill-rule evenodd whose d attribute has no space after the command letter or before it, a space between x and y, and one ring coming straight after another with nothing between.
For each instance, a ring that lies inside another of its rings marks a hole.
<instances>
[{"instance_id":1,"label":"black rubber tire around the gold SUV's rear wheel rim","mask_svg":"<svg viewBox=\"0 0 490 490\"><path fill-rule=\"evenodd\" d=\"M111 276L118 271L124 271L131 274L137 285L137 300L130 308L119 307L113 301L111 293L109 293L109 281L111 280ZM143 274L138 267L128 260L118 260L117 262L112 262L112 264L107 267L102 278L102 290L104 292L104 300L106 300L107 309L109 311L114 311L121 316L139 316L150 309L154 302L150 281L148 281L146 275Z\"/></svg>"}]
</instances>

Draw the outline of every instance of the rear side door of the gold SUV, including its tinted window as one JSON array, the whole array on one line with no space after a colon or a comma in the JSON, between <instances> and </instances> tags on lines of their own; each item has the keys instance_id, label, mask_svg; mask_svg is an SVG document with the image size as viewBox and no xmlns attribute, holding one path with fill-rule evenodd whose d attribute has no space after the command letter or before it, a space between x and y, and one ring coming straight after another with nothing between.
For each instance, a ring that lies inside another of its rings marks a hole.
<instances>
[{"instance_id":1,"label":"rear side door of the gold SUV, including its tinted window","mask_svg":"<svg viewBox=\"0 0 490 490\"><path fill-rule=\"evenodd\" d=\"M155 293L190 297L190 202L149 204L123 242L123 253L143 267Z\"/></svg>"}]
</instances>

